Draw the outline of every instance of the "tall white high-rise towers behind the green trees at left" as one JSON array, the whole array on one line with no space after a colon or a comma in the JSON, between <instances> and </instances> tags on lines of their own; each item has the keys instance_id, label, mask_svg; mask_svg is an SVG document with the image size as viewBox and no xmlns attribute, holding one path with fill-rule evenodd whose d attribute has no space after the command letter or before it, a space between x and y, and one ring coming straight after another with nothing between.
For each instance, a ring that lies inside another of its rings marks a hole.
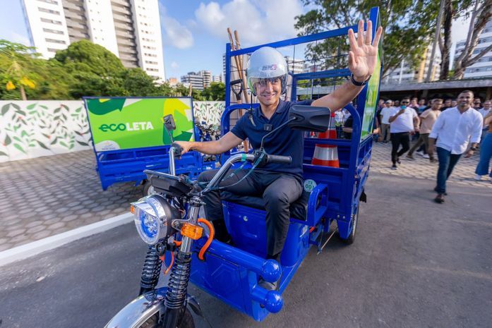
<instances>
[{"instance_id":1,"label":"tall white high-rise towers behind the green trees at left","mask_svg":"<svg viewBox=\"0 0 492 328\"><path fill-rule=\"evenodd\" d=\"M140 67L165 80L157 0L23 0L32 47L42 58L72 42L90 40L119 57L126 68Z\"/></svg>"}]
</instances>

